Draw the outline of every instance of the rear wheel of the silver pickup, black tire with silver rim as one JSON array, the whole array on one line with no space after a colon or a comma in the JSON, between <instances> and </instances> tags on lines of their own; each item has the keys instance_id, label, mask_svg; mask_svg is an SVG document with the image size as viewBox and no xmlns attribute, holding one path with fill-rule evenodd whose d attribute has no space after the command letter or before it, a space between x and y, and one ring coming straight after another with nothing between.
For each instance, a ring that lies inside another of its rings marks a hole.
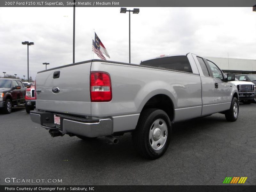
<instances>
[{"instance_id":1,"label":"rear wheel of the silver pickup, black tire with silver rim","mask_svg":"<svg viewBox=\"0 0 256 192\"><path fill-rule=\"evenodd\" d=\"M160 130L155 124L158 124L160 128L163 125L166 131L163 130L163 127ZM147 159L157 159L167 150L171 139L171 132L171 121L163 110L145 109L140 114L136 129L132 132L132 141L141 156ZM157 135L155 138L154 134L155 136ZM150 139L150 137L152 138ZM160 138L165 141L161 143Z\"/></svg>"}]
</instances>

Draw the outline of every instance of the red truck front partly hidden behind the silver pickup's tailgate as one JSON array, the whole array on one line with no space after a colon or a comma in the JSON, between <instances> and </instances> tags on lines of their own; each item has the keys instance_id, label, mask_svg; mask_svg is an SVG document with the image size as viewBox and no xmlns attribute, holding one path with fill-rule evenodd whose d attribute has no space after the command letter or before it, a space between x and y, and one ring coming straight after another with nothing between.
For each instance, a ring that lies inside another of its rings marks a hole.
<instances>
[{"instance_id":1,"label":"red truck front partly hidden behind the silver pickup's tailgate","mask_svg":"<svg viewBox=\"0 0 256 192\"><path fill-rule=\"evenodd\" d=\"M25 95L25 107L26 107L26 112L30 113L31 110L34 110L36 108L36 92L35 92L35 83L33 82L29 88L26 90L26 95Z\"/></svg>"}]
</instances>

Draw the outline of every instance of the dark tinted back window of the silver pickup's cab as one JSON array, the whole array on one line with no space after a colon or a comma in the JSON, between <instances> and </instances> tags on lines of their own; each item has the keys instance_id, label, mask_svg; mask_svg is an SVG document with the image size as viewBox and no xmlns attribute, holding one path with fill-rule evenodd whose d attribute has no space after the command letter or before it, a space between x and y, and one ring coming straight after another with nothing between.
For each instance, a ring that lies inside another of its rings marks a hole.
<instances>
[{"instance_id":1,"label":"dark tinted back window of the silver pickup's cab","mask_svg":"<svg viewBox=\"0 0 256 192\"><path fill-rule=\"evenodd\" d=\"M142 61L140 65L193 73L188 57L184 55L146 60Z\"/></svg>"}]
</instances>

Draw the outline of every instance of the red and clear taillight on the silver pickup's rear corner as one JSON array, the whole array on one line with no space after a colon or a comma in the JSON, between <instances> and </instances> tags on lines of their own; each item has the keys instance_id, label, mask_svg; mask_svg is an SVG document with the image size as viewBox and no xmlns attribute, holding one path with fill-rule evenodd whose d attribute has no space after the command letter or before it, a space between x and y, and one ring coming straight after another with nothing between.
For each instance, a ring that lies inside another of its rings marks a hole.
<instances>
[{"instance_id":1,"label":"red and clear taillight on the silver pickup's rear corner","mask_svg":"<svg viewBox=\"0 0 256 192\"><path fill-rule=\"evenodd\" d=\"M111 81L108 73L91 72L90 93L92 102L112 100Z\"/></svg>"}]
</instances>

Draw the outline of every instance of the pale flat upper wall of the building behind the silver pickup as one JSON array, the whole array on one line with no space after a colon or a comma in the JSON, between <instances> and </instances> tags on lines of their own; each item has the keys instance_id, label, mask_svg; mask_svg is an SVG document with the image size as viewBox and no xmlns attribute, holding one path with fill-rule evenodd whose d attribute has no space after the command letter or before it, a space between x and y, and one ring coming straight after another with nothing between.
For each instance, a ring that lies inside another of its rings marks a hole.
<instances>
[{"instance_id":1,"label":"pale flat upper wall of the building behind the silver pickup","mask_svg":"<svg viewBox=\"0 0 256 192\"><path fill-rule=\"evenodd\" d=\"M224 73L256 74L256 60L207 57L214 62Z\"/></svg>"}]
</instances>

